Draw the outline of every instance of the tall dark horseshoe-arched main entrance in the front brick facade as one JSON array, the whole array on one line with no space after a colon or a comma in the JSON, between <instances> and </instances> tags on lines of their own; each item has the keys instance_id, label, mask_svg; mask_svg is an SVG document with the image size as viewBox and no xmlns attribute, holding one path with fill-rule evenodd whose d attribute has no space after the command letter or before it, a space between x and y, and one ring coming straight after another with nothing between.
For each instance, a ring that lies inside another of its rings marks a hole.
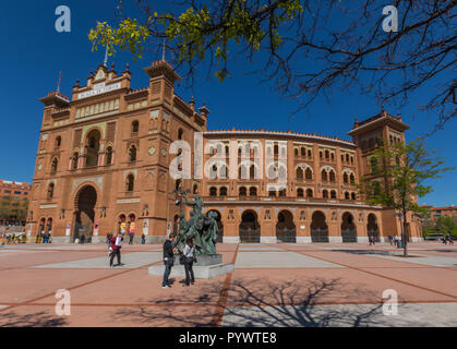
<instances>
[{"instance_id":1,"label":"tall dark horseshoe-arched main entrance in the front brick facade","mask_svg":"<svg viewBox=\"0 0 457 349\"><path fill-rule=\"evenodd\" d=\"M91 242L94 230L95 204L97 202L97 192L94 186L85 185L75 197L75 217L73 241L80 239Z\"/></svg>"}]
</instances>

